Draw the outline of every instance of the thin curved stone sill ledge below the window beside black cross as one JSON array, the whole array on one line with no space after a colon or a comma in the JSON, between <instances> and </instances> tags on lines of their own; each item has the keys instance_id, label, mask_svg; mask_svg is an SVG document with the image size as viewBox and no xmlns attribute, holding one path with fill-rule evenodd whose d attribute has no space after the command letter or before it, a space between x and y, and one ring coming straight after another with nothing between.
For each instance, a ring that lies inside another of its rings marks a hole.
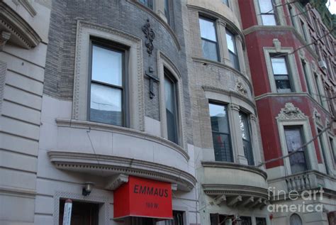
<instances>
[{"instance_id":1,"label":"thin curved stone sill ledge below the window beside black cross","mask_svg":"<svg viewBox=\"0 0 336 225\"><path fill-rule=\"evenodd\" d=\"M122 126L114 126L110 124L101 124L92 121L79 121L74 119L56 119L57 126L63 127L72 127L72 128L84 128L84 129L91 129L96 131L107 131L113 133L120 133L126 136L133 136L136 138L146 139L147 141L153 141L168 148L177 151L180 153L186 160L189 160L189 155L186 153L186 150L181 148L181 146L173 143L172 141L168 141L165 138L161 138L158 136L154 136L150 133L145 133L144 131L137 131L132 128L126 128Z\"/></svg>"}]
</instances>

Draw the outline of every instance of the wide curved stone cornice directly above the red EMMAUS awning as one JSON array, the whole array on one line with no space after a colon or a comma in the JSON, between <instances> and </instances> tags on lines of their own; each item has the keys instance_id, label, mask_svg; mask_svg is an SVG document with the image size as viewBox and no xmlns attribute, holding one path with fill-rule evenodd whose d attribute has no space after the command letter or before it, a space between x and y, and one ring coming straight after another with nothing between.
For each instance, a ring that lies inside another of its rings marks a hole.
<instances>
[{"instance_id":1,"label":"wide curved stone cornice directly above the red EMMAUS awning","mask_svg":"<svg viewBox=\"0 0 336 225\"><path fill-rule=\"evenodd\" d=\"M60 170L90 172L91 174L103 174L105 176L134 175L174 183L177 184L179 190L185 191L190 191L196 185L196 178L189 174L189 172L134 158L53 150L48 152L48 156L50 162L55 165L55 168ZM110 187L116 187L115 185L125 180L119 178L116 177L116 182L112 182Z\"/></svg>"}]
</instances>

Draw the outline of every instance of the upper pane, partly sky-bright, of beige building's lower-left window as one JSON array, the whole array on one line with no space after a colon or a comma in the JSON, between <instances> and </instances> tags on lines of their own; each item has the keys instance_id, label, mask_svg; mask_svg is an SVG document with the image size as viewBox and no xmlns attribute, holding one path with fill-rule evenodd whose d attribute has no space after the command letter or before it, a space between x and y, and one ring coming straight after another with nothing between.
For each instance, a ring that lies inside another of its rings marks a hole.
<instances>
[{"instance_id":1,"label":"upper pane, partly sky-bright, of beige building's lower-left window","mask_svg":"<svg viewBox=\"0 0 336 225\"><path fill-rule=\"evenodd\" d=\"M226 106L209 104L211 128L220 133L230 133Z\"/></svg>"}]
</instances>

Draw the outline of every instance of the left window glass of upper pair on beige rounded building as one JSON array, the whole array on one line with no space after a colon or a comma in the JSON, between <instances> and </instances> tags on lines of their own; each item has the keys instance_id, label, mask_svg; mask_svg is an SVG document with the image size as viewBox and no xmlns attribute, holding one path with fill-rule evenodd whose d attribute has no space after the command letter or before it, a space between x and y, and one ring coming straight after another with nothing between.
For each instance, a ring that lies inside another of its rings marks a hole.
<instances>
[{"instance_id":1,"label":"left window glass of upper pair on beige rounded building","mask_svg":"<svg viewBox=\"0 0 336 225\"><path fill-rule=\"evenodd\" d=\"M208 60L218 61L218 44L215 33L215 22L206 18L199 18L201 29L203 57Z\"/></svg>"}]
</instances>

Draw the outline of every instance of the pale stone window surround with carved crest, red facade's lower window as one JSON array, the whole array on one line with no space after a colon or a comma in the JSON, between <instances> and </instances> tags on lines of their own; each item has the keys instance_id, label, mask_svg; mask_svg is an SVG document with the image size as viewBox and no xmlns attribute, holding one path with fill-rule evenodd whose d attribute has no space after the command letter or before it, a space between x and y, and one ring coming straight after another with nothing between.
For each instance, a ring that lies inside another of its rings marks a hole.
<instances>
[{"instance_id":1,"label":"pale stone window surround with carved crest, red facade's lower window","mask_svg":"<svg viewBox=\"0 0 336 225\"><path fill-rule=\"evenodd\" d=\"M289 153L286 143L285 126L301 126L303 141L306 142L307 140L313 139L309 117L303 114L303 112L291 102L287 102L284 108L281 109L278 116L276 116L276 123L278 126L282 155L288 155ZM306 158L308 158L308 170L318 170L318 161L313 143L306 146L306 153ZM284 172L284 176L292 174L288 157L284 159Z\"/></svg>"}]
</instances>

